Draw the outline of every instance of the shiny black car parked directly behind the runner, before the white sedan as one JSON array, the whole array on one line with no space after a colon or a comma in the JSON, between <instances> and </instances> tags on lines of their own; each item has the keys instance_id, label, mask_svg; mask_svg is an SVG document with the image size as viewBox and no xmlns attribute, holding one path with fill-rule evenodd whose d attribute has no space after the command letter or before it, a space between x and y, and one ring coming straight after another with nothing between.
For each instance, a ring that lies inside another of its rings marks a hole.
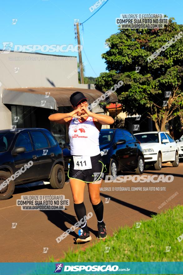
<instances>
[{"instance_id":1,"label":"shiny black car parked directly behind the runner, before the white sedan","mask_svg":"<svg viewBox=\"0 0 183 275\"><path fill-rule=\"evenodd\" d=\"M103 163L109 175L116 176L118 171L144 171L144 155L140 142L125 129L102 129L99 136L99 147ZM68 171L70 147L63 148L65 172Z\"/></svg>"}]
</instances>

